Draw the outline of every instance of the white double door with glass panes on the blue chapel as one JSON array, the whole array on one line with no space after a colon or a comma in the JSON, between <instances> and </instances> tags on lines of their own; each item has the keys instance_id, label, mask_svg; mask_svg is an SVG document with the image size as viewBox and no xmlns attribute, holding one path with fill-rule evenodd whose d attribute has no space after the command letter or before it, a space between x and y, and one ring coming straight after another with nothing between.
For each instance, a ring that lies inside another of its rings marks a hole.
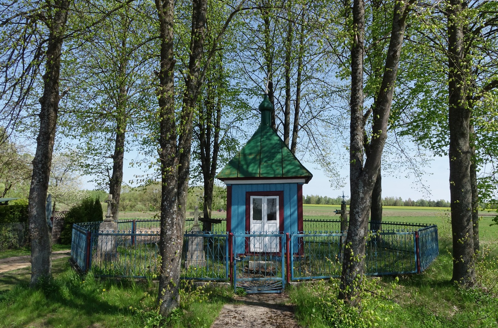
<instances>
[{"instance_id":1,"label":"white double door with glass panes on the blue chapel","mask_svg":"<svg viewBox=\"0 0 498 328\"><path fill-rule=\"evenodd\" d=\"M251 233L278 233L279 208L278 196L250 197L250 230ZM278 237L250 237L249 251L276 252L280 250Z\"/></svg>"}]
</instances>

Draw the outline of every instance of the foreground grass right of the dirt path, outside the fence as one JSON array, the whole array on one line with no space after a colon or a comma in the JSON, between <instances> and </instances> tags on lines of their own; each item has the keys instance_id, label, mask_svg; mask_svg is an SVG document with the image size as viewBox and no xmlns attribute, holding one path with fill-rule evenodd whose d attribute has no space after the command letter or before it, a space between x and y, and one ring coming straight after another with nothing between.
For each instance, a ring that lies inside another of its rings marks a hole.
<instances>
[{"instance_id":1,"label":"foreground grass right of the dirt path, outside the fence","mask_svg":"<svg viewBox=\"0 0 498 328\"><path fill-rule=\"evenodd\" d=\"M359 319L344 327L370 327L363 325L376 317L379 320L374 324L380 328L497 327L498 262L496 259L488 257L479 260L479 285L478 288L471 290L460 289L452 284L451 270L451 255L444 253L423 274L400 276L392 294L378 298L372 295L389 290L394 282L393 278L367 278L371 281L371 286L375 287L369 288L370 295L365 296L362 301L363 312L360 312ZM336 327L333 326L334 318L330 318L330 313L334 310L330 308L330 299L323 296L323 289L313 286L317 283L320 282L290 288L290 298L296 308L296 317L303 327ZM328 287L328 293L334 293L334 297L337 295L337 289L331 287L338 284L337 280L321 283ZM324 313L325 310L327 313ZM369 313L369 310L373 311L374 315ZM339 316L337 311L336 316Z\"/></svg>"}]
</instances>

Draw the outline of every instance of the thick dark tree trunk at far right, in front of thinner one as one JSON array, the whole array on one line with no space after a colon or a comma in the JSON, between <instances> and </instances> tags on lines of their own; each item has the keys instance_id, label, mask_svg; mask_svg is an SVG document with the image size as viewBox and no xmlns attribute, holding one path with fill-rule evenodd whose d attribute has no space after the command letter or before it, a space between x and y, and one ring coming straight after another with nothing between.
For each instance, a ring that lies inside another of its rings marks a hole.
<instances>
[{"instance_id":1,"label":"thick dark tree trunk at far right, in front of thinner one","mask_svg":"<svg viewBox=\"0 0 498 328\"><path fill-rule=\"evenodd\" d=\"M467 70L461 0L448 7L448 92L450 129L450 198L453 236L453 277L464 286L475 283L470 178L470 109L467 107Z\"/></svg>"}]
</instances>

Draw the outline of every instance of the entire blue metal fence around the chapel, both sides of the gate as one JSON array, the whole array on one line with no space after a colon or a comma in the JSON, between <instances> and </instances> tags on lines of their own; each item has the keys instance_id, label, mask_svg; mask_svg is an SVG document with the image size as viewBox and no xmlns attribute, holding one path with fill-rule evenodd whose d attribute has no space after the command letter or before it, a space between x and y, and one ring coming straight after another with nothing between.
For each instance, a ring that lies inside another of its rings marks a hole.
<instances>
[{"instance_id":1,"label":"entire blue metal fence around the chapel, both sides of the gate","mask_svg":"<svg viewBox=\"0 0 498 328\"><path fill-rule=\"evenodd\" d=\"M159 229L138 230L140 227L155 227L156 222L157 220L123 220L118 222L118 226L130 229L111 231L99 231L100 222L74 224L72 260L81 271L93 270L96 276L157 277L160 272ZM318 230L326 226L316 225L322 220L308 222L315 224ZM334 220L324 224L336 227L339 223ZM435 225L405 222L370 224L371 227L381 229L369 233L365 258L367 275L420 273L439 254ZM406 231L408 229L411 231ZM265 242L263 237L253 235L238 238L236 242L233 234L226 232L185 233L181 253L182 279L233 279L230 272L233 271L234 257L240 257L244 252L254 253L256 249L250 249L251 241L260 244ZM287 234L286 242L282 243L283 246L278 250L287 261L284 270L286 279L290 281L339 277L346 235L347 231L305 231ZM279 238L282 240L282 237ZM249 246L244 244L245 242Z\"/></svg>"}]
</instances>

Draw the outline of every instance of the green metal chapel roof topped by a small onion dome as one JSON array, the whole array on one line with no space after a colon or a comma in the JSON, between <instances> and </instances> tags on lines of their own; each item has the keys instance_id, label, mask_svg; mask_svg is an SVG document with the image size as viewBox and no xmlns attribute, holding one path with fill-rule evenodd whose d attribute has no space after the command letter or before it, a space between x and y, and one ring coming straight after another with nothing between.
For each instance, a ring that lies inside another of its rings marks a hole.
<instances>
[{"instance_id":1,"label":"green metal chapel roof topped by a small onion dome","mask_svg":"<svg viewBox=\"0 0 498 328\"><path fill-rule=\"evenodd\" d=\"M305 183L308 183L313 175L269 126L265 117L265 111L268 110L266 102L271 106L266 97L259 106L262 113L261 125L216 177L222 181L226 179L303 178Z\"/></svg>"}]
</instances>

